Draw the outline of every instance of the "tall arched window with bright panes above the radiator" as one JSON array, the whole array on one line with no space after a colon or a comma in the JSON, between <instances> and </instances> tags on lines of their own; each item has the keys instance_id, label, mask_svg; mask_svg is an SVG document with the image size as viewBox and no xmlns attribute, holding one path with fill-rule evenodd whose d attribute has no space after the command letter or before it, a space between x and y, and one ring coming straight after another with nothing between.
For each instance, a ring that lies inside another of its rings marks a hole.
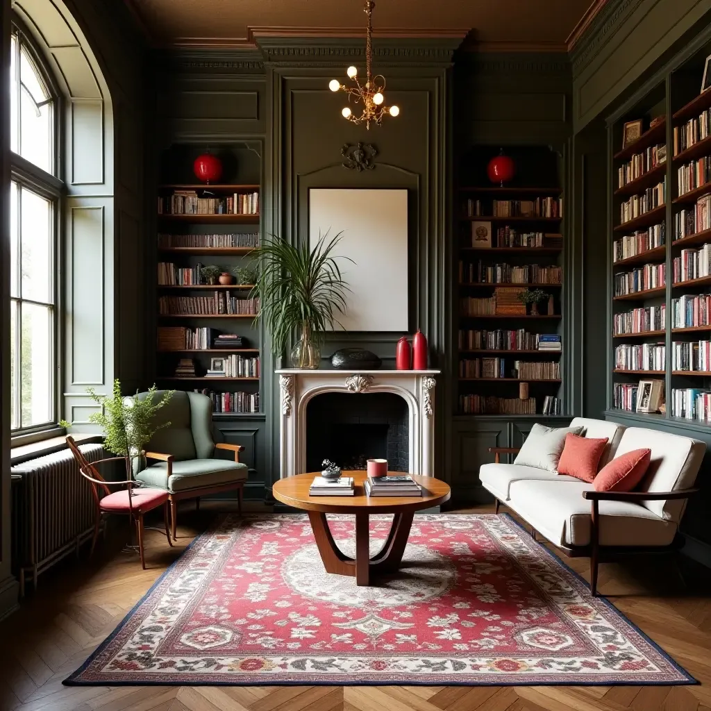
<instances>
[{"instance_id":1,"label":"tall arched window with bright panes above the radiator","mask_svg":"<svg viewBox=\"0 0 711 711\"><path fill-rule=\"evenodd\" d=\"M11 39L11 427L56 422L56 95L26 34Z\"/></svg>"}]
</instances>

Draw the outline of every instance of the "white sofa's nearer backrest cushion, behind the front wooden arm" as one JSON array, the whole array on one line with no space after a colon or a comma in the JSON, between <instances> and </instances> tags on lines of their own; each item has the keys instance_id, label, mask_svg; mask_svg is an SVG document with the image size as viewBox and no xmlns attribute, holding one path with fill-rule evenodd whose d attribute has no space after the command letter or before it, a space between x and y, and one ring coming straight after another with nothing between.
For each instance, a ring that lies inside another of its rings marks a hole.
<instances>
[{"instance_id":1,"label":"white sofa's nearer backrest cushion, behind the front wooden arm","mask_svg":"<svg viewBox=\"0 0 711 711\"><path fill-rule=\"evenodd\" d=\"M629 427L624 431L617 456L633 449L651 449L647 473L637 487L638 491L675 491L690 488L696 481L706 445L697 439L657 429ZM645 501L642 506L668 520L679 523L686 502Z\"/></svg>"}]
</instances>

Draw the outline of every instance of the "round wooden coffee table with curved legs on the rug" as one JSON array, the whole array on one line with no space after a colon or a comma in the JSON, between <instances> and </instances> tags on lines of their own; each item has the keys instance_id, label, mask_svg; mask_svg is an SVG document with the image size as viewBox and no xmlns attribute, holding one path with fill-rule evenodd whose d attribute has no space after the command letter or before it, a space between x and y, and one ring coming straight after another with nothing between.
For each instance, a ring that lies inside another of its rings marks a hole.
<instances>
[{"instance_id":1,"label":"round wooden coffee table with curved legs on the rug","mask_svg":"<svg viewBox=\"0 0 711 711\"><path fill-rule=\"evenodd\" d=\"M393 476L402 472L388 472ZM391 573L400 567L405 552L407 537L415 511L449 501L449 486L432 476L412 474L422 486L422 496L365 496L363 481L365 471L344 471L343 476L352 476L355 484L353 496L309 496L309 487L314 474L297 474L279 479L274 483L272 493L277 501L309 513L311 528L314 530L316 545L324 561L326 572L337 575L354 575L358 585L370 584L371 575ZM344 555L333 540L328 528L326 513L355 514L355 560ZM370 557L370 526L368 517L373 513L394 513L390 533L378 553Z\"/></svg>"}]
</instances>

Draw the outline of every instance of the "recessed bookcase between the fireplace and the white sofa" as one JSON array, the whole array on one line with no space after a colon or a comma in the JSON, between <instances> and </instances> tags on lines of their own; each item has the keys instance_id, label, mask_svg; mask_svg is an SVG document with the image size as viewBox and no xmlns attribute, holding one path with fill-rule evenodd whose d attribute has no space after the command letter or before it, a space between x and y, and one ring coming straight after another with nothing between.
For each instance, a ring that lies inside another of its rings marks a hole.
<instances>
[{"instance_id":1,"label":"recessed bookcase between the fireplace and the white sofa","mask_svg":"<svg viewBox=\"0 0 711 711\"><path fill-rule=\"evenodd\" d=\"M486 175L500 150L516 167L504 186ZM565 343L555 345L565 279L559 156L543 146L479 146L464 166L455 205L458 412L565 414ZM525 306L518 294L526 289L542 289L546 298Z\"/></svg>"}]
</instances>

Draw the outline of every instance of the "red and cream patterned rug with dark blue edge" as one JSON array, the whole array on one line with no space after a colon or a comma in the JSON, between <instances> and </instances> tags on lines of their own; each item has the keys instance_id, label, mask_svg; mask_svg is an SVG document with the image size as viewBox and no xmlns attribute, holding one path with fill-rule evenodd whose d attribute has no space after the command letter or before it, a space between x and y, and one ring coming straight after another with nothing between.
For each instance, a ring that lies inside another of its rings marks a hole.
<instances>
[{"instance_id":1,"label":"red and cream patterned rug with dark blue edge","mask_svg":"<svg viewBox=\"0 0 711 711\"><path fill-rule=\"evenodd\" d=\"M353 517L328 520L353 555ZM371 519L373 552L390 520ZM65 683L694 680L508 515L422 514L373 587L325 572L305 515L224 518Z\"/></svg>"}]
</instances>

